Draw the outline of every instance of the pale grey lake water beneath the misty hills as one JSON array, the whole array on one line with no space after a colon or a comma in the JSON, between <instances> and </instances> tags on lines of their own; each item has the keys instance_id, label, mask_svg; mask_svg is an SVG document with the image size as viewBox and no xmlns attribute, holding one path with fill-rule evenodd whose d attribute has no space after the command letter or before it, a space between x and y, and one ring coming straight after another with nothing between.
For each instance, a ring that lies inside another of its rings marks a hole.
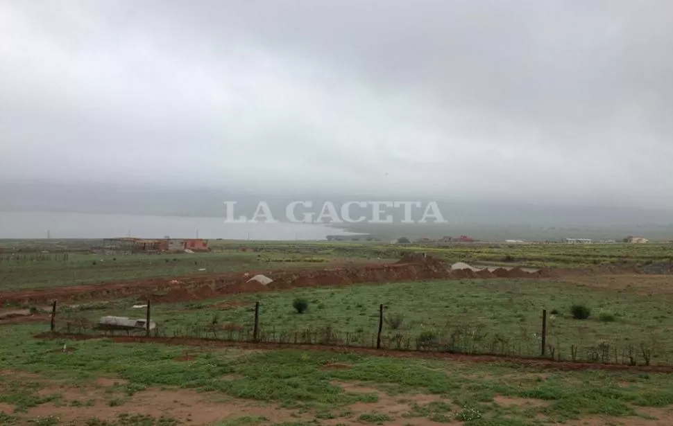
<instances>
[{"instance_id":1,"label":"pale grey lake water beneath the misty hills","mask_svg":"<svg viewBox=\"0 0 673 426\"><path fill-rule=\"evenodd\" d=\"M0 238L199 238L324 240L356 235L320 224L224 223L223 218L0 211Z\"/></svg>"}]
</instances>

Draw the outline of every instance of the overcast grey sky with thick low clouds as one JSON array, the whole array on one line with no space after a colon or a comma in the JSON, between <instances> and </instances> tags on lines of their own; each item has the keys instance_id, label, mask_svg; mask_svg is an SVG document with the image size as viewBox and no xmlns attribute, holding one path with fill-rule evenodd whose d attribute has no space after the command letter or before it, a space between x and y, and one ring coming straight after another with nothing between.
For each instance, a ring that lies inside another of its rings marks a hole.
<instances>
[{"instance_id":1,"label":"overcast grey sky with thick low clouds","mask_svg":"<svg viewBox=\"0 0 673 426\"><path fill-rule=\"evenodd\" d=\"M0 177L673 205L670 0L0 0Z\"/></svg>"}]
</instances>

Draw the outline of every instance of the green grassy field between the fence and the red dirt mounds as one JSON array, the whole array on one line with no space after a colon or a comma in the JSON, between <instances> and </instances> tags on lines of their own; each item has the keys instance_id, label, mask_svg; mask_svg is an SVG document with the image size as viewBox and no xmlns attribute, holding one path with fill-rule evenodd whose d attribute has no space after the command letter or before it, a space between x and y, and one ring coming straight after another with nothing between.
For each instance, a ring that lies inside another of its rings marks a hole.
<instances>
[{"instance_id":1,"label":"green grassy field between the fence and the red dirt mounds","mask_svg":"<svg viewBox=\"0 0 673 426\"><path fill-rule=\"evenodd\" d=\"M308 301L307 312L294 310L295 299ZM387 347L416 349L420 344L538 356L542 310L547 309L547 351L555 358L622 363L631 355L638 364L673 364L673 294L652 297L635 287L611 290L528 279L354 285L241 294L225 299L225 305L223 300L160 304L152 315L165 336L241 339L253 331L255 301L262 338L272 341L331 339L372 346L382 303ZM131 308L134 303L94 303L62 313L90 321L104 314L143 317L144 310ZM574 319L575 304L591 308L590 317ZM651 353L649 360L643 350Z\"/></svg>"}]
</instances>

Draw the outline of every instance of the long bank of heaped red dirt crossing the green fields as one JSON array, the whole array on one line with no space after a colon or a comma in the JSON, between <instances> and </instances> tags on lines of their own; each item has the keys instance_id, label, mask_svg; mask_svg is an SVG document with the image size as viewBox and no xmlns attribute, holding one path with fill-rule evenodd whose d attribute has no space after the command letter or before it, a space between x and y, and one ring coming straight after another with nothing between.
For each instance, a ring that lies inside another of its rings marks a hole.
<instances>
[{"instance_id":1,"label":"long bank of heaped red dirt crossing the green fields","mask_svg":"<svg viewBox=\"0 0 673 426\"><path fill-rule=\"evenodd\" d=\"M269 285L257 281L248 283L248 276L264 274L273 279ZM451 271L441 261L431 256L407 255L397 263L347 265L330 269L296 269L275 272L243 272L185 278L154 278L144 281L78 285L74 287L44 288L26 291L0 292L3 303L39 304L58 300L60 303L83 299L112 299L120 296L137 296L158 303L174 303L212 299L239 293L287 290L297 287L323 287L355 283L389 283L392 281L418 281L433 278L546 278L552 272L541 269L525 272L519 268L506 271L473 272L469 269Z\"/></svg>"}]
</instances>

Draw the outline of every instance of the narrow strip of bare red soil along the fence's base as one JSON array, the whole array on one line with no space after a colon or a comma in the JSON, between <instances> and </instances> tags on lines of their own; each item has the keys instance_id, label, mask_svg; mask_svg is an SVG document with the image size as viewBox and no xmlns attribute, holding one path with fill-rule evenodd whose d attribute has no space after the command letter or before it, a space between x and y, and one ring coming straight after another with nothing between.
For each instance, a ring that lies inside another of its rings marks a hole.
<instances>
[{"instance_id":1,"label":"narrow strip of bare red soil along the fence's base","mask_svg":"<svg viewBox=\"0 0 673 426\"><path fill-rule=\"evenodd\" d=\"M90 340L101 339L100 335L68 335L65 333L43 332L33 336L35 339L71 339L71 340ZM433 360L451 360L460 362L505 362L508 364L518 364L530 366L536 369L549 370L605 370L605 371L624 371L624 372L649 372L649 373L673 373L673 366L650 365L650 366L629 366L624 364L596 364L590 362L560 362L552 360L543 360L540 358L508 357L504 355L468 355L446 352L420 352L404 351L391 349L357 348L353 346L325 346L325 345L306 345L306 344L278 344L278 343L254 343L246 341L226 341L216 339L199 339L185 337L137 337L137 336L116 336L108 337L116 343L162 343L176 346L209 346L209 347L233 347L253 350L319 350L323 352L334 353L361 353L377 357L401 357L401 358L425 358Z\"/></svg>"}]
</instances>

